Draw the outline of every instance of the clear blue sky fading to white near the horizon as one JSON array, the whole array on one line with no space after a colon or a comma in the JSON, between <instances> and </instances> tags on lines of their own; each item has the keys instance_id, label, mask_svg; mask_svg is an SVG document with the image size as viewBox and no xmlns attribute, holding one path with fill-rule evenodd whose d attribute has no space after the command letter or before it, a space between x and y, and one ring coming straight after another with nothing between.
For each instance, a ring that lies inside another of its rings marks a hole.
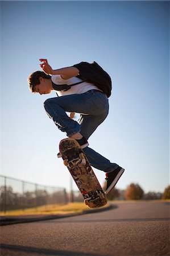
<instances>
[{"instance_id":1,"label":"clear blue sky fading to white near the horizon","mask_svg":"<svg viewBox=\"0 0 170 256\"><path fill-rule=\"evenodd\" d=\"M169 184L169 2L1 1L1 174L69 189L58 145L27 77L47 58L55 69L97 61L111 76L110 112L90 147L148 191ZM78 118L78 115L77 115ZM105 174L94 170L103 184ZM76 185L74 186L76 189Z\"/></svg>"}]
</instances>

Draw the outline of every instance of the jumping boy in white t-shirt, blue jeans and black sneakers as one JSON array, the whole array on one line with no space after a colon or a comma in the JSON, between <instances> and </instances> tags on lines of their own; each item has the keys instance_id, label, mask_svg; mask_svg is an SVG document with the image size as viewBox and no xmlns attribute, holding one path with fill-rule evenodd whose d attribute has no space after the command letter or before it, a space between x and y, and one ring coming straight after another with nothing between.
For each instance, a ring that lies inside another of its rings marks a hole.
<instances>
[{"instance_id":1,"label":"jumping boy in white t-shirt, blue jeans and black sneakers","mask_svg":"<svg viewBox=\"0 0 170 256\"><path fill-rule=\"evenodd\" d=\"M108 193L125 170L88 147L88 138L105 120L109 112L106 94L96 85L78 78L80 71L76 67L54 70L48 64L47 59L40 59L40 61L43 71L36 71L28 77L31 92L39 94L47 94L51 90L57 92L59 97L49 98L44 102L49 118L67 137L76 139L94 168L106 173L106 193ZM75 83L76 85L65 90L65 84ZM71 113L70 117L66 112ZM74 113L80 113L77 122L72 119Z\"/></svg>"}]
</instances>

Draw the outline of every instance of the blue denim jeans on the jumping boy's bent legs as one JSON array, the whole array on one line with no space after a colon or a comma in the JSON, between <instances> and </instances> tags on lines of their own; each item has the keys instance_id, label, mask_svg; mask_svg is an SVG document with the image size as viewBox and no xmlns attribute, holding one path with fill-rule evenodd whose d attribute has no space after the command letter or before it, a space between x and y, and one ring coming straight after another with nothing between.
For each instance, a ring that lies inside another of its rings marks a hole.
<instances>
[{"instance_id":1,"label":"blue denim jeans on the jumping boy's bent legs","mask_svg":"<svg viewBox=\"0 0 170 256\"><path fill-rule=\"evenodd\" d=\"M80 132L88 139L107 117L109 103L101 92L86 92L49 98L44 102L44 108L58 129L67 136ZM65 112L80 113L78 122L69 118ZM84 152L90 164L98 170L109 173L118 167L118 164L110 163L90 147L84 148Z\"/></svg>"}]
</instances>

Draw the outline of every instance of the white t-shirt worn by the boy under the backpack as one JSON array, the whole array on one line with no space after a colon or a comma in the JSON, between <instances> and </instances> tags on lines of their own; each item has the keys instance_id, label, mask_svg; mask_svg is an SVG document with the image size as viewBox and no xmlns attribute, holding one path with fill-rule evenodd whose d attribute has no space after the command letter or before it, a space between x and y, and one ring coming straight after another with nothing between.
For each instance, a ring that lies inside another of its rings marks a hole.
<instances>
[{"instance_id":1,"label":"white t-shirt worn by the boy under the backpack","mask_svg":"<svg viewBox=\"0 0 170 256\"><path fill-rule=\"evenodd\" d=\"M76 84L76 82L81 82L82 80L78 77L74 76L71 79L62 79L60 75L53 75L51 77L52 82L54 82L57 85L67 84L72 85ZM81 84L73 85L71 86L71 89L67 90L66 92L64 90L57 90L58 96L64 96L64 95L70 95L70 94L81 94L88 92L88 90L100 90L98 87L94 84L91 84L90 82L82 82Z\"/></svg>"}]
</instances>

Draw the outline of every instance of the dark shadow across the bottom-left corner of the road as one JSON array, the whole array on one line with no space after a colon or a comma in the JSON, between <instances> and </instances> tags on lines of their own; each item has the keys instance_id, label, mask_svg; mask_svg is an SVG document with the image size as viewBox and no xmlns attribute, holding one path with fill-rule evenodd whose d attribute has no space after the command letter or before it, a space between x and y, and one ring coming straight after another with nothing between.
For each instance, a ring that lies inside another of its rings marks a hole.
<instances>
[{"instance_id":1,"label":"dark shadow across the bottom-left corner of the road","mask_svg":"<svg viewBox=\"0 0 170 256\"><path fill-rule=\"evenodd\" d=\"M1 250L3 251L6 249L7 251L18 251L20 252L19 255L22 255L21 253L30 253L32 255L40 254L40 255L57 255L57 256L97 256L97 254L87 254L87 253L76 253L75 251L61 251L61 250L52 250L52 249L43 249L43 248L37 248L37 247L30 247L30 246L19 246L19 245L6 245L4 243L1 244ZM13 255L13 254L9 254Z\"/></svg>"}]
</instances>

